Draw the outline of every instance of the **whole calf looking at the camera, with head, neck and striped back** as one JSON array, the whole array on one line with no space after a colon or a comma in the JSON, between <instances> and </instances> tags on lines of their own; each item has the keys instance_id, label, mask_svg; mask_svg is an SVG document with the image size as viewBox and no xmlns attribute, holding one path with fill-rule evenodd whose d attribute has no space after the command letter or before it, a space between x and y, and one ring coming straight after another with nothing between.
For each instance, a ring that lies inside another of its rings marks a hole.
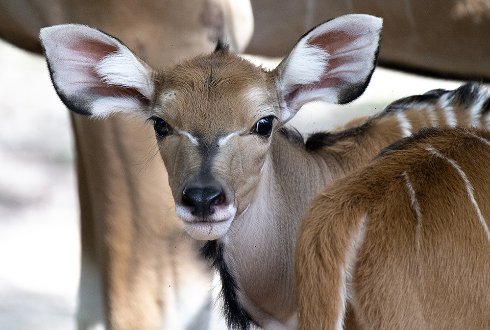
<instances>
[{"instance_id":1,"label":"whole calf looking at the camera, with head, neck and striped back","mask_svg":"<svg viewBox=\"0 0 490 330\"><path fill-rule=\"evenodd\" d=\"M207 241L202 255L221 275L228 325L294 329L296 234L314 193L421 127L487 126L486 94L466 85L398 101L306 143L287 129L307 102L346 103L364 92L381 26L369 15L321 24L272 71L221 43L155 71L88 26L45 28L41 40L70 109L96 118L136 114L153 124L176 214L192 237Z\"/></svg>"}]
</instances>

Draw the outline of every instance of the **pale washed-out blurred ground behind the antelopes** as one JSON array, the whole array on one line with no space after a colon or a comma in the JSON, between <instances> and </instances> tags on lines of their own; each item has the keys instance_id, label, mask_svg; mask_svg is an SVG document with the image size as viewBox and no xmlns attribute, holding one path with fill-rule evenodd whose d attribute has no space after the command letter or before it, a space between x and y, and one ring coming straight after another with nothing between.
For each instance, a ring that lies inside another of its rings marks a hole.
<instances>
[{"instance_id":1,"label":"pale washed-out blurred ground behind the antelopes","mask_svg":"<svg viewBox=\"0 0 490 330\"><path fill-rule=\"evenodd\" d=\"M359 100L310 106L293 124L330 129L399 97L459 84L377 70ZM44 60L0 42L0 329L76 329L78 236L68 111Z\"/></svg>"}]
</instances>

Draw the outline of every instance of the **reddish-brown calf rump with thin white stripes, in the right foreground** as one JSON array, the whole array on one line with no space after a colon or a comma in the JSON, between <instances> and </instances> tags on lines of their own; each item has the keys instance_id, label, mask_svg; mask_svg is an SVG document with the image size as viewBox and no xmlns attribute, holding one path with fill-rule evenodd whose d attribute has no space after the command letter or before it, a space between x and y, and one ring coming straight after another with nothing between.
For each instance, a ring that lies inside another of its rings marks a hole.
<instances>
[{"instance_id":1,"label":"reddish-brown calf rump with thin white stripes, in the right foreground","mask_svg":"<svg viewBox=\"0 0 490 330\"><path fill-rule=\"evenodd\" d=\"M490 329L489 173L490 132L446 127L330 183L299 229L299 329Z\"/></svg>"}]
</instances>

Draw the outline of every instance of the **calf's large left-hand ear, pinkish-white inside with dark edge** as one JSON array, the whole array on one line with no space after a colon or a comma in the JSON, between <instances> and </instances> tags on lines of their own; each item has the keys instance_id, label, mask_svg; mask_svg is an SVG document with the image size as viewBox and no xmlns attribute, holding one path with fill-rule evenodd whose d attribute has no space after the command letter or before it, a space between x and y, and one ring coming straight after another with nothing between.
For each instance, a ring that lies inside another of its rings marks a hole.
<instances>
[{"instance_id":1,"label":"calf's large left-hand ear, pinkish-white inside with dark edge","mask_svg":"<svg viewBox=\"0 0 490 330\"><path fill-rule=\"evenodd\" d=\"M118 39L86 25L41 29L54 88L76 113L141 113L154 98L154 72Z\"/></svg>"}]
</instances>

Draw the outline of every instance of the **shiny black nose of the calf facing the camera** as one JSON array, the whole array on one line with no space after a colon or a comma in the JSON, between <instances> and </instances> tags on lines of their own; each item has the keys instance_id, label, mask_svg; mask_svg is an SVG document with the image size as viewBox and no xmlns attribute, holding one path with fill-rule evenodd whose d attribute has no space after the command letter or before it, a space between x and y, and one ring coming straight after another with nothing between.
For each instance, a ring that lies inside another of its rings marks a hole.
<instances>
[{"instance_id":1,"label":"shiny black nose of the calf facing the camera","mask_svg":"<svg viewBox=\"0 0 490 330\"><path fill-rule=\"evenodd\" d=\"M191 206L191 213L199 217L206 217L215 212L213 205L223 203L223 193L214 188L186 188L183 192L182 202Z\"/></svg>"}]
</instances>

